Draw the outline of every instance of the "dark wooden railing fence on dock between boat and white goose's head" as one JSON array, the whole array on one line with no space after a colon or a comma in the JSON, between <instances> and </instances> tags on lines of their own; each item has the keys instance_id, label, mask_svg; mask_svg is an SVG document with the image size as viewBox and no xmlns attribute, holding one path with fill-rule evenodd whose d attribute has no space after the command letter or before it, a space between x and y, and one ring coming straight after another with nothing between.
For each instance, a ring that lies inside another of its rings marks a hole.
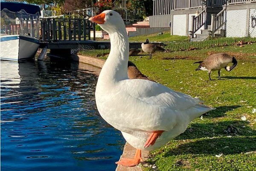
<instances>
[{"instance_id":1,"label":"dark wooden railing fence on dock between boat and white goose's head","mask_svg":"<svg viewBox=\"0 0 256 171\"><path fill-rule=\"evenodd\" d=\"M95 23L87 19L41 18L40 24L43 42L91 40L91 31L95 40Z\"/></svg>"}]
</instances>

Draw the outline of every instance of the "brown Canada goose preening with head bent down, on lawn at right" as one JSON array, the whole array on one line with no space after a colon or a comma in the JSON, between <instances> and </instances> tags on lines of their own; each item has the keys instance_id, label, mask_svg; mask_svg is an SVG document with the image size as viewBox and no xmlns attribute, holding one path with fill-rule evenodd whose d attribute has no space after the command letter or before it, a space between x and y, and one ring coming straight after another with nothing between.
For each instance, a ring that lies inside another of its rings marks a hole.
<instances>
[{"instance_id":1,"label":"brown Canada goose preening with head bent down, on lawn at right","mask_svg":"<svg viewBox=\"0 0 256 171\"><path fill-rule=\"evenodd\" d=\"M229 63L233 63L232 66L227 66ZM204 61L194 62L194 64L199 63L199 67L195 70L208 71L209 80L211 79L211 72L218 70L218 80L221 79L220 72L221 68L225 68L226 71L231 71L236 67L237 61L235 57L228 55L227 53L216 53L208 56Z\"/></svg>"}]
</instances>

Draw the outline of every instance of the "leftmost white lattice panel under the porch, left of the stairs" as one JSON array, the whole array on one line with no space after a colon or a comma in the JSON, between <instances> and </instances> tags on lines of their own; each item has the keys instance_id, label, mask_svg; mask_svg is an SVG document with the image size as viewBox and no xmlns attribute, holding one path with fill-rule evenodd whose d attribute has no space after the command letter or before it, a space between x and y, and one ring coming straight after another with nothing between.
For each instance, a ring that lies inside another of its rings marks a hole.
<instances>
[{"instance_id":1,"label":"leftmost white lattice panel under the porch, left of the stairs","mask_svg":"<svg viewBox=\"0 0 256 171\"><path fill-rule=\"evenodd\" d=\"M186 36L186 14L173 16L173 35Z\"/></svg>"}]
</instances>

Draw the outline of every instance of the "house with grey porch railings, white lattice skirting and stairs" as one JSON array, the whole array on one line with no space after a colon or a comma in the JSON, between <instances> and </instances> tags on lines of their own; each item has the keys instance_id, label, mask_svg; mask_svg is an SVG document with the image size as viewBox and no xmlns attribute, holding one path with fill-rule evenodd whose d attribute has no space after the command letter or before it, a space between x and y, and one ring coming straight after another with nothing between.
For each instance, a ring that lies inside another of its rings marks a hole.
<instances>
[{"instance_id":1,"label":"house with grey porch railings, white lattice skirting and stairs","mask_svg":"<svg viewBox=\"0 0 256 171\"><path fill-rule=\"evenodd\" d=\"M192 40L256 37L256 0L153 0L150 27L170 27Z\"/></svg>"}]
</instances>

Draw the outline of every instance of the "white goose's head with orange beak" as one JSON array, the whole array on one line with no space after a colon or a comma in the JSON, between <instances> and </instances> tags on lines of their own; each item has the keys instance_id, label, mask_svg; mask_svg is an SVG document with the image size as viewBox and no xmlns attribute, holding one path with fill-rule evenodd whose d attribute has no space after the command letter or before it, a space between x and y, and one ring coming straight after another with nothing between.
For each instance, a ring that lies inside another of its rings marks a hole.
<instances>
[{"instance_id":1,"label":"white goose's head with orange beak","mask_svg":"<svg viewBox=\"0 0 256 171\"><path fill-rule=\"evenodd\" d=\"M120 14L113 10L103 11L101 14L90 17L91 22L97 23L103 30L109 34L114 32L123 32L125 24Z\"/></svg>"}]
</instances>

